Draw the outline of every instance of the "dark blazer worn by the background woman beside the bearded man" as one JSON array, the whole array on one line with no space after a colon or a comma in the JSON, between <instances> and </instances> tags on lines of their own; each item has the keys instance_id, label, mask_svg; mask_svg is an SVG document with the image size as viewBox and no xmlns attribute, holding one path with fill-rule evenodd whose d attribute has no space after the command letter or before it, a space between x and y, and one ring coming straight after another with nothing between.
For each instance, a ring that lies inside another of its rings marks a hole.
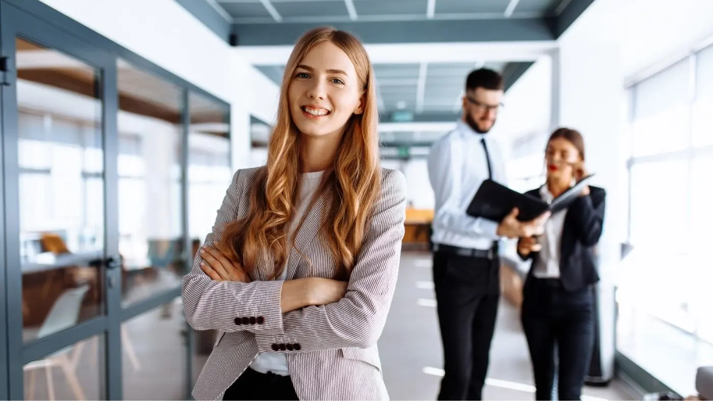
<instances>
[{"instance_id":1,"label":"dark blazer worn by the background woman beside the bearded man","mask_svg":"<svg viewBox=\"0 0 713 401\"><path fill-rule=\"evenodd\" d=\"M526 193L542 198L540 189ZM565 291L577 291L599 281L594 246L602 236L606 195L607 192L603 188L590 186L590 194L576 199L565 215L560 253L560 281ZM539 254L520 254L520 258L537 260L535 258L538 258ZM528 271L528 278L533 275L533 267L534 264Z\"/></svg>"}]
</instances>

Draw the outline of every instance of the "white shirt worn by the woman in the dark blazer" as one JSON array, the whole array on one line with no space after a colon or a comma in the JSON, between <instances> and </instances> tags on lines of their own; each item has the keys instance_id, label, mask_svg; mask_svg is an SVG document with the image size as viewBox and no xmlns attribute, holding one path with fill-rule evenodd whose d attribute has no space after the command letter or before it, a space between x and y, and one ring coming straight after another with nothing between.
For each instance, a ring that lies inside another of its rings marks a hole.
<instances>
[{"instance_id":1,"label":"white shirt worn by the woman in the dark blazer","mask_svg":"<svg viewBox=\"0 0 713 401\"><path fill-rule=\"evenodd\" d=\"M543 201L552 203L554 197L547 189L547 184L540 187ZM560 254L562 251L562 230L565 227L567 209L550 216L545 222L545 232L540 235L542 245L538 258L533 261L533 276L538 278L560 278Z\"/></svg>"}]
</instances>

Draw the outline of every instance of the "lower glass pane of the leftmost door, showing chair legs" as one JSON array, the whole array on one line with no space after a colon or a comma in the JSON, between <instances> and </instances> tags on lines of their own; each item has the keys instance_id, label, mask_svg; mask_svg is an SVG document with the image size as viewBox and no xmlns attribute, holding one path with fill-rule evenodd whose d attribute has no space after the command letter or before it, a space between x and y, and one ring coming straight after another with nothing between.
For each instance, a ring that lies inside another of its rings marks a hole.
<instances>
[{"instance_id":1,"label":"lower glass pane of the leftmost door, showing chair legs","mask_svg":"<svg viewBox=\"0 0 713 401\"><path fill-rule=\"evenodd\" d=\"M104 400L103 354L95 335L24 365L25 400Z\"/></svg>"}]
</instances>

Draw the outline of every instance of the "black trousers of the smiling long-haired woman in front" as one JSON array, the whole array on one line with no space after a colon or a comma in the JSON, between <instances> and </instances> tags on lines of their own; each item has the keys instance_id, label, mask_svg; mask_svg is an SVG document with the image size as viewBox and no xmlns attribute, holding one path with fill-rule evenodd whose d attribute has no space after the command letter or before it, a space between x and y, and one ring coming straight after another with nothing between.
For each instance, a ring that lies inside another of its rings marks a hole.
<instances>
[{"instance_id":1,"label":"black trousers of the smiling long-haired woman in front","mask_svg":"<svg viewBox=\"0 0 713 401\"><path fill-rule=\"evenodd\" d=\"M299 400L289 376L247 368L223 395L223 400Z\"/></svg>"}]
</instances>

